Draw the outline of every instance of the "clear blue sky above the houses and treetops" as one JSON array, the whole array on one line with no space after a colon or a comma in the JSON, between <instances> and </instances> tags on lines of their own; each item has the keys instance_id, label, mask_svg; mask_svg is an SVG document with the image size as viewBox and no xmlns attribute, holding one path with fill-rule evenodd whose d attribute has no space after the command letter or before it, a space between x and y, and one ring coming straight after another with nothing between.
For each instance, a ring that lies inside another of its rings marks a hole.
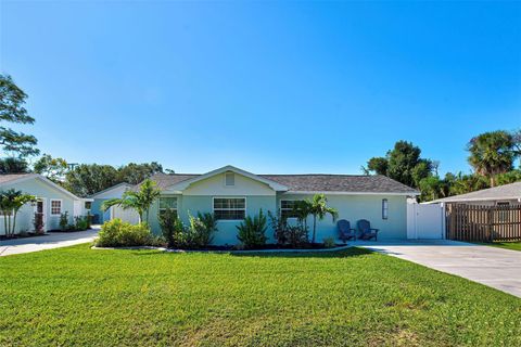
<instances>
[{"instance_id":1,"label":"clear blue sky above the houses and treetops","mask_svg":"<svg viewBox=\"0 0 521 347\"><path fill-rule=\"evenodd\" d=\"M359 174L401 139L441 171L521 127L521 2L2 1L25 127L75 163Z\"/></svg>"}]
</instances>

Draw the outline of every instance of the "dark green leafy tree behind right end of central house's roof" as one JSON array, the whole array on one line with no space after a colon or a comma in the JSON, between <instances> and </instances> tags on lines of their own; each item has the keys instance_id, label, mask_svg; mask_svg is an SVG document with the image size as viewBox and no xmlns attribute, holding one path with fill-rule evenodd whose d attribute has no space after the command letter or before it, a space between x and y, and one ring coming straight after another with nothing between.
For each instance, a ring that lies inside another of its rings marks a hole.
<instances>
[{"instance_id":1,"label":"dark green leafy tree behind right end of central house's roof","mask_svg":"<svg viewBox=\"0 0 521 347\"><path fill-rule=\"evenodd\" d=\"M411 142L397 141L385 157L372 157L367 162L366 174L387 176L409 187L418 188L422 179L434 169L430 159L421 158L421 150Z\"/></svg>"}]
</instances>

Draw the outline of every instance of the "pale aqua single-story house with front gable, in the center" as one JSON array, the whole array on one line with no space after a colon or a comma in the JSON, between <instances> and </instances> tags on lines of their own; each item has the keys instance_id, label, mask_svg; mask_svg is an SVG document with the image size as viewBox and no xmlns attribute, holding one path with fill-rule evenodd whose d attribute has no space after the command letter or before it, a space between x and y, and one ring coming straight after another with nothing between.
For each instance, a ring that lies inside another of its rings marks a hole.
<instances>
[{"instance_id":1,"label":"pale aqua single-story house with front gable, in the center","mask_svg":"<svg viewBox=\"0 0 521 347\"><path fill-rule=\"evenodd\" d=\"M149 223L160 234L158 214L175 209L188 223L189 214L215 214L218 231L214 244L237 244L237 226L246 215L260 209L280 211L291 217L295 201L323 193L328 205L339 211L340 219L356 226L367 219L380 229L381 239L407 237L407 197L419 192L385 176L361 175L255 175L233 166L203 174L158 174L152 177L161 189L161 197L150 210ZM308 226L313 224L309 217ZM317 223L317 241L336 237L336 223L331 217ZM267 236L272 240L272 230Z\"/></svg>"}]
</instances>

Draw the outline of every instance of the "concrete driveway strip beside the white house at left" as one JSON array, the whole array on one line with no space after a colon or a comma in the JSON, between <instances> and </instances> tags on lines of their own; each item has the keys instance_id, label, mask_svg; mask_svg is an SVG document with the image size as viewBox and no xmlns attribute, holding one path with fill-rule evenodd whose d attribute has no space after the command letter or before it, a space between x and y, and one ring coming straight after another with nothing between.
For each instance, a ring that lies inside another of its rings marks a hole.
<instances>
[{"instance_id":1,"label":"concrete driveway strip beside the white house at left","mask_svg":"<svg viewBox=\"0 0 521 347\"><path fill-rule=\"evenodd\" d=\"M92 242L98 228L76 232L52 232L42 236L0 241L0 256L67 247Z\"/></svg>"}]
</instances>

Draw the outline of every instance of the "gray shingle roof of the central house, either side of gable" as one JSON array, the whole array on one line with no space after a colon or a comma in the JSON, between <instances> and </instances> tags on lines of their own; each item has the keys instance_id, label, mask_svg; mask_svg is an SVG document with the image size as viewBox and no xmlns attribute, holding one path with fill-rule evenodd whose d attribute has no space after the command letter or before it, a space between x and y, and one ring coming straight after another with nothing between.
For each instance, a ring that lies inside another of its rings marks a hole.
<instances>
[{"instance_id":1,"label":"gray shingle roof of the central house, either side of gable","mask_svg":"<svg viewBox=\"0 0 521 347\"><path fill-rule=\"evenodd\" d=\"M160 189L177 184L201 175L157 174L152 177ZM285 185L289 192L356 192L356 193L404 193L417 194L418 191L389 177L363 175L258 175L262 178Z\"/></svg>"}]
</instances>

